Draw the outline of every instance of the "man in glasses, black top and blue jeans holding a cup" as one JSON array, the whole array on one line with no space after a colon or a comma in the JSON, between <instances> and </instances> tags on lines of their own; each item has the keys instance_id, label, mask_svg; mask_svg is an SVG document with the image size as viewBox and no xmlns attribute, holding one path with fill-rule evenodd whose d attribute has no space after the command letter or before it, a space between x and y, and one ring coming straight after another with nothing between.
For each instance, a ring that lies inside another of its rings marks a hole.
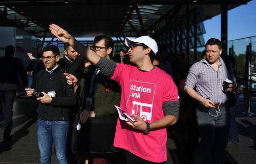
<instances>
[{"instance_id":1,"label":"man in glasses, black top and blue jeans holding a cup","mask_svg":"<svg viewBox=\"0 0 256 164\"><path fill-rule=\"evenodd\" d=\"M36 109L37 141L40 150L40 163L51 163L52 142L55 146L58 163L68 163L66 139L69 131L70 106L76 103L75 95L67 84L64 69L60 67L59 49L48 45L42 50L42 61L46 69L37 73L36 89L26 88L27 95L40 101ZM41 93L41 97L35 94ZM55 94L50 94L54 91ZM49 95L48 95L49 94ZM51 96L50 96L51 95Z\"/></svg>"}]
</instances>

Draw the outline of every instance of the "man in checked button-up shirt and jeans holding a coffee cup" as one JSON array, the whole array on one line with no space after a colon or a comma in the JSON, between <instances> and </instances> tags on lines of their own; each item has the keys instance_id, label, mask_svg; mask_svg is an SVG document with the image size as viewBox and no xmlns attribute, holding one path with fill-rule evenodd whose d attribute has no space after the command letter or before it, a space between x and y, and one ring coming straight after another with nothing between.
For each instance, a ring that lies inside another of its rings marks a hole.
<instances>
[{"instance_id":1,"label":"man in checked button-up shirt and jeans holding a coffee cup","mask_svg":"<svg viewBox=\"0 0 256 164\"><path fill-rule=\"evenodd\" d=\"M229 98L228 92L234 90L234 85L230 84L229 88L223 91L222 83L226 78L233 81L235 79L233 70L229 71L220 57L221 42L211 38L207 41L205 49L206 58L191 66L184 87L186 93L198 102L196 113L201 141L193 163L205 163L208 153L212 152L214 163L221 164L225 162L229 132L226 101Z\"/></svg>"}]
</instances>

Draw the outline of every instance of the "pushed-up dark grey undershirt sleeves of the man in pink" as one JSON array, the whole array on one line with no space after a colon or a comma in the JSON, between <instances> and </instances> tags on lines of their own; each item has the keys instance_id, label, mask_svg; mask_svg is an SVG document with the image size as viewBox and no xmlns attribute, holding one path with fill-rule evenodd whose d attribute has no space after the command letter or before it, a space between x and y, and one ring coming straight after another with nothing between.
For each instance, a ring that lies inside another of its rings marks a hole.
<instances>
[{"instance_id":1,"label":"pushed-up dark grey undershirt sleeves of the man in pink","mask_svg":"<svg viewBox=\"0 0 256 164\"><path fill-rule=\"evenodd\" d=\"M95 66L106 76L111 77L116 69L116 63L112 60L106 58L100 58L99 62ZM163 103L164 115L175 116L178 120L179 118L179 101L167 101Z\"/></svg>"}]
</instances>

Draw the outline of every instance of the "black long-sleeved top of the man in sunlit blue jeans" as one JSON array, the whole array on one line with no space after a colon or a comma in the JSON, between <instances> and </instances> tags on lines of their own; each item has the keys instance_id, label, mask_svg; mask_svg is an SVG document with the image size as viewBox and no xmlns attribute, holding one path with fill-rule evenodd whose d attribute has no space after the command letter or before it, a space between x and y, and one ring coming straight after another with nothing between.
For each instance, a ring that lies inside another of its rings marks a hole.
<instances>
[{"instance_id":1,"label":"black long-sleeved top of the man in sunlit blue jeans","mask_svg":"<svg viewBox=\"0 0 256 164\"><path fill-rule=\"evenodd\" d=\"M76 103L76 98L71 87L67 84L63 72L64 69L58 66L51 74L45 69L40 70L37 74L37 92L56 92L56 97L52 97L50 104L39 101L36 111L38 118L41 120L60 121L69 119L70 107Z\"/></svg>"}]
</instances>

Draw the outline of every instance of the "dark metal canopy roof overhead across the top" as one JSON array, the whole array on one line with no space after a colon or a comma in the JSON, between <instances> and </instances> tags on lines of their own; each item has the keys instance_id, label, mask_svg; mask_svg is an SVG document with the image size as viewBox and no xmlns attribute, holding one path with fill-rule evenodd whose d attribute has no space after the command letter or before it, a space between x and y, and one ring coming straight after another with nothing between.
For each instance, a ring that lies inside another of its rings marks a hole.
<instances>
[{"instance_id":1,"label":"dark metal canopy roof overhead across the top","mask_svg":"<svg viewBox=\"0 0 256 164\"><path fill-rule=\"evenodd\" d=\"M227 10L250 0L228 0ZM53 37L56 23L74 37L137 37L158 34L199 11L198 23L221 13L221 0L0 1L0 26L17 26L38 38Z\"/></svg>"}]
</instances>

